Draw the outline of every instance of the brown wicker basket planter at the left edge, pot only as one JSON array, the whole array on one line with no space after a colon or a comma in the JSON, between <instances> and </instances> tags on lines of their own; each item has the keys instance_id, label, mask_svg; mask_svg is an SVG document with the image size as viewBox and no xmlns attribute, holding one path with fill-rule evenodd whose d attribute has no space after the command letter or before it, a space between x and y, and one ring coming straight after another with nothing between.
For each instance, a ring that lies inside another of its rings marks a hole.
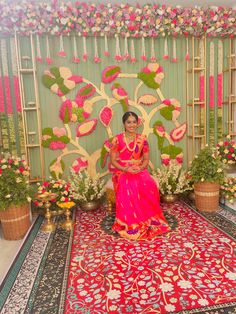
<instances>
[{"instance_id":1,"label":"brown wicker basket planter at the left edge, pot only","mask_svg":"<svg viewBox=\"0 0 236 314\"><path fill-rule=\"evenodd\" d=\"M19 240L24 237L30 227L29 204L10 206L0 211L3 236L6 240Z\"/></svg>"}]
</instances>

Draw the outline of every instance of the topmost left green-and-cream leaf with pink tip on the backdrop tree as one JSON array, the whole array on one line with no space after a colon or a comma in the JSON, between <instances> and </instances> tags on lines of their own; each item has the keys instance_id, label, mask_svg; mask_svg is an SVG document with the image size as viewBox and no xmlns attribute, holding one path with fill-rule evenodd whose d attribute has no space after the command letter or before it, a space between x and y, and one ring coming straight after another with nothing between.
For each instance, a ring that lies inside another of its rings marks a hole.
<instances>
[{"instance_id":1,"label":"topmost left green-and-cream leaf with pink tip on the backdrop tree","mask_svg":"<svg viewBox=\"0 0 236 314\"><path fill-rule=\"evenodd\" d=\"M58 96L68 94L76 84L83 82L82 76L72 75L71 70L66 67L53 67L44 73L42 78L44 86Z\"/></svg>"}]
</instances>

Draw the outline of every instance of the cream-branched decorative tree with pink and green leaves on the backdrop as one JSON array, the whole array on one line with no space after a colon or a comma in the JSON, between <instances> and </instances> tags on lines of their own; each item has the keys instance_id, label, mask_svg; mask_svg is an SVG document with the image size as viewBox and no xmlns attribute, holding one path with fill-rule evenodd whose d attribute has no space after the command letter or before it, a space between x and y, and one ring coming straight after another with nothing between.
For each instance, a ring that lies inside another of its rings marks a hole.
<instances>
[{"instance_id":1,"label":"cream-branched decorative tree with pink and green leaves on the backdrop","mask_svg":"<svg viewBox=\"0 0 236 314\"><path fill-rule=\"evenodd\" d=\"M134 91L133 100L128 96L127 91L121 84L114 82L116 78L138 78L141 80ZM110 123L113 118L112 107L120 103L123 111L134 107L140 112L139 123L143 124L144 133L149 136L154 133L157 137L158 148L161 152L161 159L164 164L168 164L171 159L182 163L183 152L182 148L176 147L175 142L179 142L186 133L187 125L183 123L180 125L178 117L180 115L181 106L176 99L165 99L161 93L160 85L164 78L163 69L157 63L150 63L144 67L138 74L122 73L121 68L116 65L106 67L102 72L100 88L92 82L86 80L81 76L72 75L70 69L65 67L51 68L45 72L43 76L43 84L49 88L53 93L61 97L62 104L60 108L59 117L64 123L64 128L45 128L43 130L42 145L46 148L61 151L60 155L51 162L50 172L56 177L60 178L65 169L63 158L69 154L78 154L72 167L75 171L80 171L84 168L93 176L96 175L96 165L100 159L102 168L106 165L106 160L110 151L111 139L113 137ZM112 97L108 96L105 91L105 86L111 84L110 89ZM77 84L84 84L77 92L74 100L67 98L68 94ZM147 94L138 98L138 93L142 85L151 88L155 95ZM158 98L161 100L160 105L155 105L150 113L145 110L145 105L154 105ZM105 141L102 149L94 151L89 154L80 144L80 138L87 136L95 131L98 119L89 119L95 103L105 100L106 104L99 113L99 120L106 128L108 139ZM172 121L174 128L170 134L165 130L164 124L161 120L157 120L152 127L150 127L151 119L160 112L160 116L167 121ZM76 137L72 137L70 125L77 123ZM164 145L167 142L167 145ZM70 144L74 149L69 150L67 145ZM107 172L102 174L106 175Z\"/></svg>"}]
</instances>

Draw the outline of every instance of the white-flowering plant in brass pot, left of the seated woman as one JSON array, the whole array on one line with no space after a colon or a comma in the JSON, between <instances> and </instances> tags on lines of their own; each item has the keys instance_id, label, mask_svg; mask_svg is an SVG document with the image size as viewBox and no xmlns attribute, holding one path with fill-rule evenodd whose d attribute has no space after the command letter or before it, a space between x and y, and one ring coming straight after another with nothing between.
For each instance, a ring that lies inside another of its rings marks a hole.
<instances>
[{"instance_id":1,"label":"white-flowering plant in brass pot, left of the seated woman","mask_svg":"<svg viewBox=\"0 0 236 314\"><path fill-rule=\"evenodd\" d=\"M87 170L77 173L71 169L70 186L73 198L83 210L98 208L105 193L105 182L99 176L92 178Z\"/></svg>"}]
</instances>

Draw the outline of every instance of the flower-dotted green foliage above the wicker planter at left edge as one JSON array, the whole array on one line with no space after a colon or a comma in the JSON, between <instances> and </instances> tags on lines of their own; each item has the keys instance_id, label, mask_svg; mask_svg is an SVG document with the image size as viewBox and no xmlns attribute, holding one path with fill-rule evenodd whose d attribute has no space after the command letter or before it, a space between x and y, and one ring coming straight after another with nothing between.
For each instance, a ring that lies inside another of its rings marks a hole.
<instances>
[{"instance_id":1,"label":"flower-dotted green foliage above the wicker planter at left edge","mask_svg":"<svg viewBox=\"0 0 236 314\"><path fill-rule=\"evenodd\" d=\"M30 201L29 167L24 160L8 157L0 160L0 210Z\"/></svg>"}]
</instances>

